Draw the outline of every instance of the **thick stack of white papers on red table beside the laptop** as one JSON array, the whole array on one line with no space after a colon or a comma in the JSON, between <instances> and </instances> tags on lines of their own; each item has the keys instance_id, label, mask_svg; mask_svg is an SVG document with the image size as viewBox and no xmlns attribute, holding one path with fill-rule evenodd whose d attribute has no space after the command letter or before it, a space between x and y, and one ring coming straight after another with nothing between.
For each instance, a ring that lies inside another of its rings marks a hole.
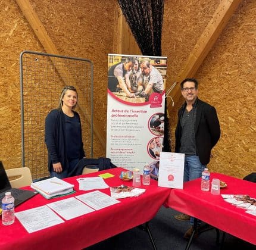
<instances>
[{"instance_id":1,"label":"thick stack of white papers on red table beside the laptop","mask_svg":"<svg viewBox=\"0 0 256 250\"><path fill-rule=\"evenodd\" d=\"M56 196L63 196L74 192L73 184L58 179L57 177L34 182L31 184L31 187L38 191L46 199L54 198Z\"/></svg>"}]
</instances>

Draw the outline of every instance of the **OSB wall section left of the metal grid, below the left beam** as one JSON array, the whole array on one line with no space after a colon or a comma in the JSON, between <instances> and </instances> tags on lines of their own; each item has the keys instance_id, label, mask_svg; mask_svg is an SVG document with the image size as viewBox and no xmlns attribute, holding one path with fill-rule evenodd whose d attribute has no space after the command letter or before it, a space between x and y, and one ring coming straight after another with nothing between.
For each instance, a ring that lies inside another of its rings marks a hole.
<instances>
[{"instance_id":1,"label":"OSB wall section left of the metal grid, below the left beam","mask_svg":"<svg viewBox=\"0 0 256 250\"><path fill-rule=\"evenodd\" d=\"M19 55L42 47L14 0L1 1L0 24L0 160L13 168L21 166Z\"/></svg>"}]
</instances>

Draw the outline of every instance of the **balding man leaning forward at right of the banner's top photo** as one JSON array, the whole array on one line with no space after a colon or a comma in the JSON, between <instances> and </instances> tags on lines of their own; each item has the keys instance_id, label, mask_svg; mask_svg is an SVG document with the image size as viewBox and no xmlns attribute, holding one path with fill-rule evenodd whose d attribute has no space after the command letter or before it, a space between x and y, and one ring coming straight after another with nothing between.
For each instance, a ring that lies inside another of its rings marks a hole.
<instances>
[{"instance_id":1,"label":"balding man leaning forward at right of the banner's top photo","mask_svg":"<svg viewBox=\"0 0 256 250\"><path fill-rule=\"evenodd\" d=\"M162 93L164 90L162 75L146 60L141 62L141 76L139 77L138 90L141 91L141 96L146 97L146 101L148 101L151 93Z\"/></svg>"}]
</instances>

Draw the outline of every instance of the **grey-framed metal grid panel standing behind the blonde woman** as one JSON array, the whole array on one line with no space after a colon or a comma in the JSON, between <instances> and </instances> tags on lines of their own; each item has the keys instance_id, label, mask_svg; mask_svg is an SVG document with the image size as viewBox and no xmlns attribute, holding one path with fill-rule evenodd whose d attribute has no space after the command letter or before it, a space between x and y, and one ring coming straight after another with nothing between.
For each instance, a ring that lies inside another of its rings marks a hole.
<instances>
[{"instance_id":1,"label":"grey-framed metal grid panel standing behind the blonde woman","mask_svg":"<svg viewBox=\"0 0 256 250\"><path fill-rule=\"evenodd\" d=\"M48 176L44 142L45 117L58 106L61 90L73 85L78 92L82 136L86 155L93 158L93 64L85 58L34 51L20 54L22 166L33 179ZM89 153L89 154L88 154Z\"/></svg>"}]
</instances>

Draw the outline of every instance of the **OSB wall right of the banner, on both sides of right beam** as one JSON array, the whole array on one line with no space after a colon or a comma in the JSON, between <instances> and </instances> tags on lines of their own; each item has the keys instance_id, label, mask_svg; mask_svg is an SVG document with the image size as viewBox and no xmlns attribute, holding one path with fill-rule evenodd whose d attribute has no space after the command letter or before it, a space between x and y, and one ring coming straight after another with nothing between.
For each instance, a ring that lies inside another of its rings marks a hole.
<instances>
[{"instance_id":1,"label":"OSB wall right of the banner, on both sides of right beam","mask_svg":"<svg viewBox=\"0 0 256 250\"><path fill-rule=\"evenodd\" d=\"M218 4L219 1L166 1L163 55L169 58L169 86ZM208 166L211 171L239 178L256 171L255 14L256 2L242 1L195 74L199 98L216 107L221 126L221 138ZM173 140L177 108L182 103L180 98L170 111Z\"/></svg>"}]
</instances>

